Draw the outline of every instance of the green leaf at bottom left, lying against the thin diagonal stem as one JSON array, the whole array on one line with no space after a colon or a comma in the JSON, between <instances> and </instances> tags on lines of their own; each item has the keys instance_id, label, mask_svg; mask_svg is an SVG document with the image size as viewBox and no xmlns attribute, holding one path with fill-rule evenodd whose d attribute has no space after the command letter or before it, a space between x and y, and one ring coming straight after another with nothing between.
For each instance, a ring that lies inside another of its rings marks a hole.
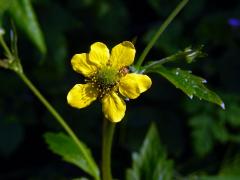
<instances>
[{"instance_id":1,"label":"green leaf at bottom left, lying against the thin diagonal stem","mask_svg":"<svg viewBox=\"0 0 240 180\"><path fill-rule=\"evenodd\" d=\"M63 160L78 166L95 178L99 177L99 169L91 155L90 150L85 144L81 143L85 148L88 157L86 157L86 154L84 154L78 148L78 146L69 136L63 133L46 133L44 138L49 145L49 148L55 154L62 156ZM89 162L86 160L87 158L91 160L94 167L89 164Z\"/></svg>"}]
</instances>

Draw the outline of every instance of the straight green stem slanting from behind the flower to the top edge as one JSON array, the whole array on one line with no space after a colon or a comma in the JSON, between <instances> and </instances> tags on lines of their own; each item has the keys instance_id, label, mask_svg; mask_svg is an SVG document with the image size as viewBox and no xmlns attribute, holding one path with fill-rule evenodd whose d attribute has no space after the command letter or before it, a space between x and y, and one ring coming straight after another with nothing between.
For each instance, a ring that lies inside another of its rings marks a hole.
<instances>
[{"instance_id":1,"label":"straight green stem slanting from behind the flower to the top edge","mask_svg":"<svg viewBox=\"0 0 240 180\"><path fill-rule=\"evenodd\" d=\"M147 47L144 49L142 54L140 55L138 62L136 63L136 68L139 69L142 65L144 59L146 58L149 51L152 49L153 45L156 43L160 35L164 32L164 30L168 27L168 25L173 21L173 19L177 16L177 14L182 10L182 8L187 4L188 0L182 0L177 7L173 10L173 12L168 16L168 18L163 22L160 26L156 34L152 37L151 41L148 43Z\"/></svg>"}]
</instances>

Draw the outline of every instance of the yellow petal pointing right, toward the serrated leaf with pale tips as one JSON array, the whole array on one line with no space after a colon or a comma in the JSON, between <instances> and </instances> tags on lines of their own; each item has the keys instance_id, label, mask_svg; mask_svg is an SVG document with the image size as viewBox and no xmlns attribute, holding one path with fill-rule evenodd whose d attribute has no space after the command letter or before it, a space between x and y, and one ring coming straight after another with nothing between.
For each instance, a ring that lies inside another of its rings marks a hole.
<instances>
[{"instance_id":1,"label":"yellow petal pointing right, toward the serrated leaf with pale tips","mask_svg":"<svg viewBox=\"0 0 240 180\"><path fill-rule=\"evenodd\" d=\"M152 85L147 75L130 73L120 79L119 92L130 99L137 98Z\"/></svg>"}]
</instances>

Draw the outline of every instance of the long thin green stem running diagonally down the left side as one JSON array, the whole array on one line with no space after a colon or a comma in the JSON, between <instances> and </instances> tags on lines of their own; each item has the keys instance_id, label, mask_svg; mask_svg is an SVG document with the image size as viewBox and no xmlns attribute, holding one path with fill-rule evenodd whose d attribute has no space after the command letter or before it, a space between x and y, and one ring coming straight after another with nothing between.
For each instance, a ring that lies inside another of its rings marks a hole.
<instances>
[{"instance_id":1,"label":"long thin green stem running diagonally down the left side","mask_svg":"<svg viewBox=\"0 0 240 180\"><path fill-rule=\"evenodd\" d=\"M28 77L24 73L17 72L18 76L24 81L24 83L31 89L34 95L38 97L38 99L43 103L43 105L47 108L47 110L54 116L54 118L61 124L64 130L68 133L68 135L73 139L76 143L78 148L83 152L86 161L88 162L89 166L94 170L94 164L88 158L88 154L85 148L82 146L81 142L79 141L78 137L72 131L72 129L68 126L66 121L61 117L61 115L53 108L53 106L43 97L43 95L38 91L38 89L32 84L32 82L28 79ZM94 177L96 180L99 180L99 177L96 175Z\"/></svg>"}]
</instances>

